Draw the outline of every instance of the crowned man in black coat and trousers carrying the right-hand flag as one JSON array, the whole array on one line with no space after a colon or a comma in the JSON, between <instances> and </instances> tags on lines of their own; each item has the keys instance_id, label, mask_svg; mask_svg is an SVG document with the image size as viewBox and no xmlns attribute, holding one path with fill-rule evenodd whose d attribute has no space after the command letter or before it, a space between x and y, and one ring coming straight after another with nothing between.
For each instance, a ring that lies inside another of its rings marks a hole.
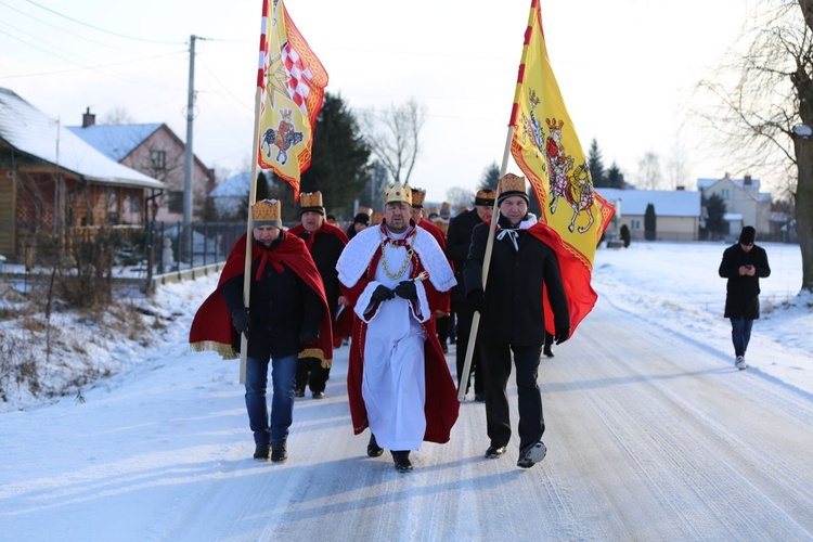
<instances>
[{"instance_id":1,"label":"crowned man in black coat and trousers carrying the right-hand flag","mask_svg":"<svg viewBox=\"0 0 813 542\"><path fill-rule=\"evenodd\" d=\"M483 292L482 267L489 224L474 229L472 247L463 270L466 299L481 314L478 341L486 376L486 423L491 446L489 459L500 457L511 439L506 386L516 365L519 406L519 459L530 468L546 453L542 442L545 423L537 384L539 360L545 340L543 289L554 314L556 344L570 335L570 315L556 253L542 241L543 229L528 212L524 177L500 179L496 205L498 231Z\"/></svg>"}]
</instances>

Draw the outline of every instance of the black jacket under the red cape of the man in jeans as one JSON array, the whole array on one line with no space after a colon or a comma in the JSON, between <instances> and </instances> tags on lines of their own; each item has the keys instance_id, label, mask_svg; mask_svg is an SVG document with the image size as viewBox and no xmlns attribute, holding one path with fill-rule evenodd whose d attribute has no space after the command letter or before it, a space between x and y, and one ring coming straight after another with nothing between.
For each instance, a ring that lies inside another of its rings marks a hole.
<instances>
[{"instance_id":1,"label":"black jacket under the red cape of the man in jeans","mask_svg":"<svg viewBox=\"0 0 813 542\"><path fill-rule=\"evenodd\" d=\"M283 235L287 233L281 233L280 238L271 244L271 250L281 243ZM319 294L284 264L282 272L267 264L257 281L259 263L260 258L256 258L251 264L248 356L264 359L268 356L283 358L296 354L301 350L301 332L319 333L322 301ZM244 307L243 276L240 274L220 286L230 312Z\"/></svg>"}]
</instances>

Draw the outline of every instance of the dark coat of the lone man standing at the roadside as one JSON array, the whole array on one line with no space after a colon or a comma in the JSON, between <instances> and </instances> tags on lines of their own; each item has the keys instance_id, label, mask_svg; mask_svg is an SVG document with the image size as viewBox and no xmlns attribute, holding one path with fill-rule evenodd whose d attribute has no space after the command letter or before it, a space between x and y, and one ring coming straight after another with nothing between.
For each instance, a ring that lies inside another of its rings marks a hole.
<instances>
[{"instance_id":1,"label":"dark coat of the lone man standing at the roadside","mask_svg":"<svg viewBox=\"0 0 813 542\"><path fill-rule=\"evenodd\" d=\"M749 264L757 269L757 274L740 275L739 268ZM748 320L760 318L760 278L771 275L765 249L753 245L746 253L739 243L732 245L723 251L723 261L720 263L719 272L720 276L728 279L725 287L725 318Z\"/></svg>"}]
</instances>

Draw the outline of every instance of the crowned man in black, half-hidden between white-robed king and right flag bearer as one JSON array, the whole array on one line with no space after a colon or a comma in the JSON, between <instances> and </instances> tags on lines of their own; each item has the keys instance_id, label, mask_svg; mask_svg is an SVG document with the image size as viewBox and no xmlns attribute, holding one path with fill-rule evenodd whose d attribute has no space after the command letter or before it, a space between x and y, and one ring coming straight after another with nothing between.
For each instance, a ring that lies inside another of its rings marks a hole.
<instances>
[{"instance_id":1,"label":"crowned man in black, half-hidden between white-robed king and right flag bearer","mask_svg":"<svg viewBox=\"0 0 813 542\"><path fill-rule=\"evenodd\" d=\"M491 219L494 210L494 191L492 189L479 190L475 196L475 208L461 212L449 222L449 233L446 241L446 255L454 266L454 278L457 285L452 288L452 312L457 319L457 337L456 363L457 363L457 383L463 374L463 365L466 361L466 347L468 346L468 336L472 332L472 318L474 309L466 301L466 289L463 285L463 267L468 257L468 247L472 244L472 231L475 225ZM469 378L466 380L466 393L470 386L470 375L475 375L475 401L485 401L482 374L480 373L480 352L475 347L472 356L472 366ZM457 384L460 386L460 384Z\"/></svg>"}]
</instances>

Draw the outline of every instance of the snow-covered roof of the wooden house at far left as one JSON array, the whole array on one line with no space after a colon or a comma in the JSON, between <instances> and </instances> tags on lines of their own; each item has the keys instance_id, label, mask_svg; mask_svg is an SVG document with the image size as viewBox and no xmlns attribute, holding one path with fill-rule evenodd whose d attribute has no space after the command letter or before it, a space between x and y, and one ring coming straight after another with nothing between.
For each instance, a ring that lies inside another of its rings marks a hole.
<instances>
[{"instance_id":1,"label":"snow-covered roof of the wooden house at far left","mask_svg":"<svg viewBox=\"0 0 813 542\"><path fill-rule=\"evenodd\" d=\"M17 151L103 184L163 189L164 183L122 166L48 117L9 89L0 88L0 139Z\"/></svg>"}]
</instances>

